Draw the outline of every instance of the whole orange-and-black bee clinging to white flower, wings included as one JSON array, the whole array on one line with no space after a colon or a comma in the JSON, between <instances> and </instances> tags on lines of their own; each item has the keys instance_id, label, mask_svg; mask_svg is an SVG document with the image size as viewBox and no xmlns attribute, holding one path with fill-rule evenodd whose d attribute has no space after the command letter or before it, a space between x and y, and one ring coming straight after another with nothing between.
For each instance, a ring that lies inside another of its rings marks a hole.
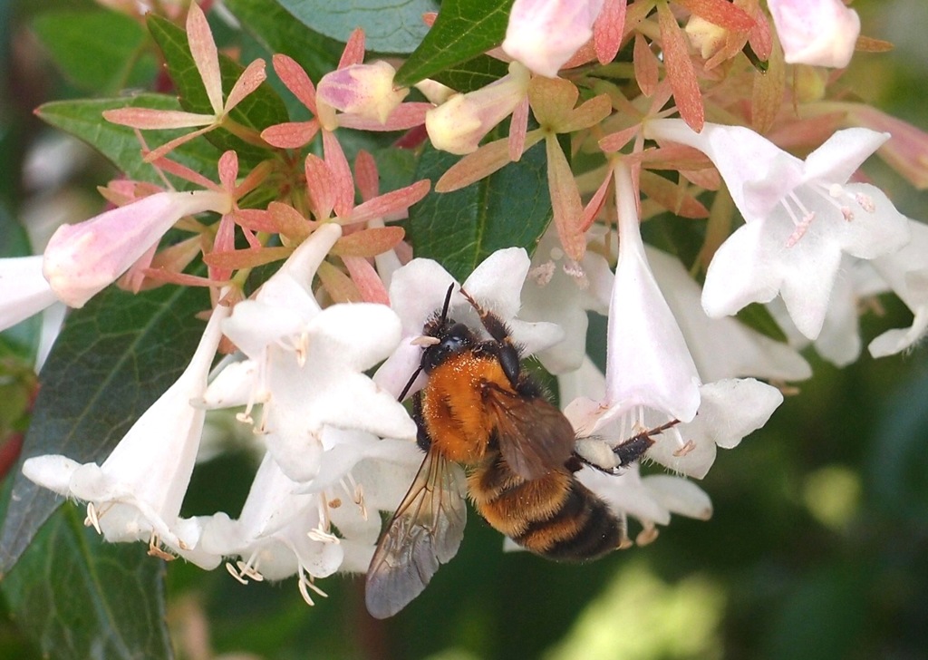
<instances>
[{"instance_id":1,"label":"whole orange-and-black bee clinging to white flower, wings included","mask_svg":"<svg viewBox=\"0 0 928 660\"><path fill-rule=\"evenodd\" d=\"M400 395L425 371L429 380L413 395L425 458L367 569L367 611L377 618L403 609L458 552L467 516L460 466L470 468L466 490L475 509L496 530L548 559L597 559L619 547L624 522L574 472L584 465L617 472L671 425L615 447L608 467L576 453L573 426L522 369L506 324L461 290L491 338L482 340L448 318L453 291L425 324L428 345Z\"/></svg>"}]
</instances>

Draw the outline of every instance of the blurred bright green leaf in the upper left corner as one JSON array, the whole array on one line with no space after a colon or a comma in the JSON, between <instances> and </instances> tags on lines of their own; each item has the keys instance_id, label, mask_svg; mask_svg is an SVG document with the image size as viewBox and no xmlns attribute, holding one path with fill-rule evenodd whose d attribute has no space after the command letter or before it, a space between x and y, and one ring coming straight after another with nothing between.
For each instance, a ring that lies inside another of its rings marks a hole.
<instances>
[{"instance_id":1,"label":"blurred bright green leaf in the upper left corner","mask_svg":"<svg viewBox=\"0 0 928 660\"><path fill-rule=\"evenodd\" d=\"M147 86L158 73L145 30L115 11L51 11L36 17L32 29L64 76L86 91Z\"/></svg>"}]
</instances>

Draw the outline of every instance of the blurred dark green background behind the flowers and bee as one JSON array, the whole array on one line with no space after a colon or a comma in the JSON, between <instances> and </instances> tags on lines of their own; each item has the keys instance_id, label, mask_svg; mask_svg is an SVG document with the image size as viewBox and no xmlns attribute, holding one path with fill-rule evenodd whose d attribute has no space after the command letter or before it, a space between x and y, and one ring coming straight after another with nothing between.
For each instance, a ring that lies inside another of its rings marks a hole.
<instances>
[{"instance_id":1,"label":"blurred dark green background behind the flowers and bee","mask_svg":"<svg viewBox=\"0 0 928 660\"><path fill-rule=\"evenodd\" d=\"M30 160L52 136L32 117L45 100L81 96L32 32L52 6L0 0L0 216L34 224L93 212L93 187L112 175L81 149L59 181L35 180ZM928 129L928 3L857 0L864 33L896 44L858 54L844 82L876 107ZM871 163L878 165L878 163ZM879 166L870 170L896 206L928 220L928 195ZM25 174L24 174L25 173ZM36 228L37 227L37 228ZM0 254L14 234L0 235ZM883 300L864 317L865 343L908 326ZM675 518L644 548L584 566L501 552L476 515L458 557L426 592L386 622L367 616L360 577L322 583L307 607L293 580L243 587L223 570L174 563L169 619L180 657L263 658L888 658L928 655L928 354L835 369L813 354L767 427L720 451L702 482L709 522ZM197 479L244 498L243 457L217 459ZM209 502L191 501L192 510ZM634 530L633 530L634 533ZM0 616L0 656L36 652Z\"/></svg>"}]
</instances>

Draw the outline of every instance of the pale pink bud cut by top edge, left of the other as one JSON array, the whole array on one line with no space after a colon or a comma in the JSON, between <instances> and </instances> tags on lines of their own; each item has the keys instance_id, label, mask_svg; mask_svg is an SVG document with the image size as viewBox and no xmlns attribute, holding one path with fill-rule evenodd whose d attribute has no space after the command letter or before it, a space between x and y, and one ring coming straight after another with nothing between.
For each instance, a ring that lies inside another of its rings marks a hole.
<instances>
[{"instance_id":1,"label":"pale pink bud cut by top edge, left of the other","mask_svg":"<svg viewBox=\"0 0 928 660\"><path fill-rule=\"evenodd\" d=\"M503 50L539 75L554 78L593 36L603 0L516 0Z\"/></svg>"}]
</instances>

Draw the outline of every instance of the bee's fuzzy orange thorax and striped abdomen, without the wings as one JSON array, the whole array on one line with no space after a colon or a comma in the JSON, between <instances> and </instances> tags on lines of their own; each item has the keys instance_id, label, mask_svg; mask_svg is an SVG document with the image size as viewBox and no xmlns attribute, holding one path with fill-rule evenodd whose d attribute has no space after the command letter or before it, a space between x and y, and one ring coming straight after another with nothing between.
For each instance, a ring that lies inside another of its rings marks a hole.
<instances>
[{"instance_id":1,"label":"bee's fuzzy orange thorax and striped abdomen, without the wings","mask_svg":"<svg viewBox=\"0 0 928 660\"><path fill-rule=\"evenodd\" d=\"M580 465L569 458L525 479L499 451L498 415L487 405L488 388L550 407L544 390L522 369L507 374L499 353L509 349L518 356L512 346L474 343L469 334L458 352L434 360L415 406L420 442L472 468L467 484L474 507L526 550L560 561L601 557L619 546L624 526L574 477Z\"/></svg>"}]
</instances>

